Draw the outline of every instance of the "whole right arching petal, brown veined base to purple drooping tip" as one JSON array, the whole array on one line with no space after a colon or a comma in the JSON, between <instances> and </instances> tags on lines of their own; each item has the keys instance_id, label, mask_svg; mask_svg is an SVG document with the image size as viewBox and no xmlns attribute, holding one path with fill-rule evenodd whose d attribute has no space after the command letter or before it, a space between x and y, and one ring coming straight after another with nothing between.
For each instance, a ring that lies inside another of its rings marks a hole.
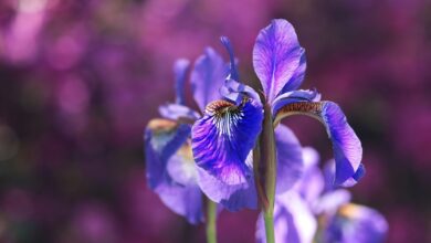
<instances>
[{"instance_id":1,"label":"whole right arching petal, brown veined base to purple drooping tip","mask_svg":"<svg viewBox=\"0 0 431 243\"><path fill-rule=\"evenodd\" d=\"M290 115L308 115L320 120L333 142L336 163L335 180L337 186L350 186L351 178L356 181L364 176L362 147L355 131L347 124L346 116L339 106L333 102L299 102L291 103L277 110L274 124Z\"/></svg>"}]
</instances>

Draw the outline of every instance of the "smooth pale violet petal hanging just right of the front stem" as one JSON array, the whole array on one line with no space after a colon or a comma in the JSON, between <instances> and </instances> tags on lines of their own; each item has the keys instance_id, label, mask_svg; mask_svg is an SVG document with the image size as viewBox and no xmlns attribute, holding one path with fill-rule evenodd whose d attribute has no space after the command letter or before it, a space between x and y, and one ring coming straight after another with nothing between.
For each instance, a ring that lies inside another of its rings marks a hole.
<instances>
[{"instance_id":1,"label":"smooth pale violet petal hanging just right of the front stem","mask_svg":"<svg viewBox=\"0 0 431 243\"><path fill-rule=\"evenodd\" d=\"M284 125L275 128L275 145L277 152L276 193L283 193L303 176L302 146L294 133Z\"/></svg>"}]
</instances>

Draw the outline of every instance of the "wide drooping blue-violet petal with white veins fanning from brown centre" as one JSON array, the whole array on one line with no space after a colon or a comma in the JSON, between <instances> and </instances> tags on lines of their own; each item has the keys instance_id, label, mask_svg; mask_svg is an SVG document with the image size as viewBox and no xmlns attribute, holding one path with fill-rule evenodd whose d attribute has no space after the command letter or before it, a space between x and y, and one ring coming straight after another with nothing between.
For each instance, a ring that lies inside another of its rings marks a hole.
<instances>
[{"instance_id":1,"label":"wide drooping blue-violet petal with white veins fanning from brown centre","mask_svg":"<svg viewBox=\"0 0 431 243\"><path fill-rule=\"evenodd\" d=\"M231 187L217 191L212 182L200 180L206 182L200 186L212 201L229 201L235 191L252 187L253 169L246 158L261 131L262 119L262 106L253 99L244 99L239 106L217 101L195 123L191 137L196 163L213 177L214 183Z\"/></svg>"}]
</instances>

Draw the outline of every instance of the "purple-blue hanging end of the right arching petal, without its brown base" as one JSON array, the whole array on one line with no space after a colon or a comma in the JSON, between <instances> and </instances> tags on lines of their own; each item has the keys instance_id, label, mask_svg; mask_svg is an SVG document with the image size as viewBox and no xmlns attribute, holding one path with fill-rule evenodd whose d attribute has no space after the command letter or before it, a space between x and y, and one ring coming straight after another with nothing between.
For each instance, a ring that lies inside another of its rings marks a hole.
<instances>
[{"instance_id":1,"label":"purple-blue hanging end of the right arching petal, without its brown base","mask_svg":"<svg viewBox=\"0 0 431 243\"><path fill-rule=\"evenodd\" d=\"M364 176L361 173L365 171L364 166L360 166L362 159L360 140L348 125L346 116L337 104L323 103L320 117L333 141L336 167L334 183L350 186L349 179L354 176L359 178L358 176Z\"/></svg>"}]
</instances>

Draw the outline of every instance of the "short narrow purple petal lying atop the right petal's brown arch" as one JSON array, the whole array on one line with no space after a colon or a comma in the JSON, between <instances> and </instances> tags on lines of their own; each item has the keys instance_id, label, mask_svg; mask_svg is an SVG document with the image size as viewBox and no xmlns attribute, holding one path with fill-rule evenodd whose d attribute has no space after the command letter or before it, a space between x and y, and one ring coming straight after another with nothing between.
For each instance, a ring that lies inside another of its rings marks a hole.
<instances>
[{"instance_id":1,"label":"short narrow purple petal lying atop the right petal's brown arch","mask_svg":"<svg viewBox=\"0 0 431 243\"><path fill-rule=\"evenodd\" d=\"M316 89L299 89L283 93L272 103L272 114L277 114L278 109L292 103L297 102L319 102L322 95Z\"/></svg>"}]
</instances>

